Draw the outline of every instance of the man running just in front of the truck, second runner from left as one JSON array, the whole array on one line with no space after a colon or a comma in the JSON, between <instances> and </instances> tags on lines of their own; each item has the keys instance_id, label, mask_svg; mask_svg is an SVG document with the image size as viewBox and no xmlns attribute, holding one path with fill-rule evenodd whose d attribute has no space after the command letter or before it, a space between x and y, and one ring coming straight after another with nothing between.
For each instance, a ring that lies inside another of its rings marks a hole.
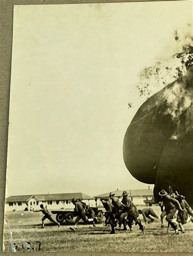
<instances>
[{"instance_id":1,"label":"man running just in front of the truck, second runner from left","mask_svg":"<svg viewBox=\"0 0 193 256\"><path fill-rule=\"evenodd\" d=\"M88 218L85 212L85 203L75 200L74 198L71 201L75 205L75 212L78 212L78 216L75 220L75 227L70 227L70 230L76 231L79 221L82 219L84 222L88 222Z\"/></svg>"}]
</instances>

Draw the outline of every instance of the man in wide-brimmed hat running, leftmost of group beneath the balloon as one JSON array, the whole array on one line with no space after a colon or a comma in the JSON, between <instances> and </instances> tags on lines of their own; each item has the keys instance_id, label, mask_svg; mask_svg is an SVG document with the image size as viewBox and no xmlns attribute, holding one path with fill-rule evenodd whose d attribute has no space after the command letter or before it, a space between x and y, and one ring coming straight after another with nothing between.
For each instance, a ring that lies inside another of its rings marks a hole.
<instances>
[{"instance_id":1,"label":"man in wide-brimmed hat running, leftmost of group beneath the balloon","mask_svg":"<svg viewBox=\"0 0 193 256\"><path fill-rule=\"evenodd\" d=\"M169 196L169 194L165 190L161 190L159 193L159 196L162 197L162 201L165 207L166 212L166 221L171 225L173 230L175 230L175 234L178 235L178 224L173 221L173 216L176 213L176 208L179 211L183 211L180 203L178 200L174 199L173 197Z\"/></svg>"}]
</instances>

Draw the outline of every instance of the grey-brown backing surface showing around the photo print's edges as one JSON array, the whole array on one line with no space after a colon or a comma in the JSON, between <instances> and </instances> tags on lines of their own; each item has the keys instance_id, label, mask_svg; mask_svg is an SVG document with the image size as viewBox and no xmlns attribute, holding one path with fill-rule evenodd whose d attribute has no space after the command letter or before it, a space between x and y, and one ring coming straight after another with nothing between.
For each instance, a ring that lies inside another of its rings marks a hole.
<instances>
[{"instance_id":1,"label":"grey-brown backing surface showing around the photo print's edges","mask_svg":"<svg viewBox=\"0 0 193 256\"><path fill-rule=\"evenodd\" d=\"M159 0L158 0L159 1ZM6 180L6 166L7 166L7 139L9 126L9 91L10 91L10 77L11 77L11 47L12 47L12 31L13 31L13 5L16 4L75 4L75 3L103 3L103 2L147 2L144 0L129 1L129 0L1 0L0 1L0 253L2 254L2 234L3 234L3 220L4 220L4 197L5 197L5 180ZM15 179L19 179L15 174ZM12 253L4 253L10 255ZM20 254L20 253L19 253ZM38 255L46 255L48 253L36 252ZM69 253L51 252L50 255L91 255L91 253ZM92 253L92 255L106 255L107 253ZM118 253L119 255L126 255L127 253ZM134 254L134 253L129 253ZM138 253L136 253L138 254ZM150 253L142 253L149 255ZM162 253L165 254L165 253ZM178 255L178 253L169 253L169 255ZM189 253L186 253L189 254ZM108 253L108 255L115 255L115 253ZM168 254L167 254L168 255Z\"/></svg>"}]
</instances>

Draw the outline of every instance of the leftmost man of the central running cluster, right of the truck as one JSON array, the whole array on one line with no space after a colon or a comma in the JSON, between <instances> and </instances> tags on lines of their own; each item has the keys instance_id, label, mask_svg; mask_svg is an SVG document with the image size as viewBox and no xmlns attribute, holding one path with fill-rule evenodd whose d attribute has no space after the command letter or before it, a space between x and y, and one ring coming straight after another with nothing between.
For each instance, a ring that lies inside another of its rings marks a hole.
<instances>
[{"instance_id":1,"label":"leftmost man of the central running cluster, right of the truck","mask_svg":"<svg viewBox=\"0 0 193 256\"><path fill-rule=\"evenodd\" d=\"M111 225L111 232L110 234L115 234L114 231L114 220L115 220L115 214L112 212L113 205L110 202L109 198L107 197L102 197L100 201L103 204L103 207L105 208L105 225L110 224Z\"/></svg>"}]
</instances>

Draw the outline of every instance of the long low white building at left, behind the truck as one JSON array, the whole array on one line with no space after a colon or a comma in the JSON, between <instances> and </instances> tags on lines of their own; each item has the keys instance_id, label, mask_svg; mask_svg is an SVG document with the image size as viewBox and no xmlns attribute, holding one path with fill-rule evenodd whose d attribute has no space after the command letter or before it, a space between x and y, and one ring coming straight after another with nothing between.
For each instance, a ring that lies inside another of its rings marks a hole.
<instances>
[{"instance_id":1,"label":"long low white building at left, behind the truck","mask_svg":"<svg viewBox=\"0 0 193 256\"><path fill-rule=\"evenodd\" d=\"M36 210L41 203L47 205L48 210L73 209L72 198L81 199L87 205L96 206L94 197L83 193L38 194L9 196L5 200L5 211Z\"/></svg>"}]
</instances>

